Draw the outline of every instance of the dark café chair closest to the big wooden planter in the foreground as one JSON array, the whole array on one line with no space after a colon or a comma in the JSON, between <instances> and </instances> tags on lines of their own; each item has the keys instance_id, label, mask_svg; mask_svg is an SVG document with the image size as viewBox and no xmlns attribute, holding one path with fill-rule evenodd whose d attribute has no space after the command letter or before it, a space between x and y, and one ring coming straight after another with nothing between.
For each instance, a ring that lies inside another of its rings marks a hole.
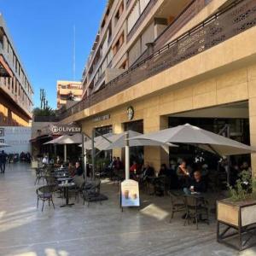
<instances>
[{"instance_id":1,"label":"dark caf\u00e9 chair closest to the big wooden planter in the foreground","mask_svg":"<svg viewBox=\"0 0 256 256\"><path fill-rule=\"evenodd\" d=\"M184 202L186 207L186 217L184 225L189 224L191 218L195 219L196 230L198 230L198 220L203 214L206 215L206 219L201 219L207 224L209 223L209 208L207 201L199 195L184 195Z\"/></svg>"}]
</instances>

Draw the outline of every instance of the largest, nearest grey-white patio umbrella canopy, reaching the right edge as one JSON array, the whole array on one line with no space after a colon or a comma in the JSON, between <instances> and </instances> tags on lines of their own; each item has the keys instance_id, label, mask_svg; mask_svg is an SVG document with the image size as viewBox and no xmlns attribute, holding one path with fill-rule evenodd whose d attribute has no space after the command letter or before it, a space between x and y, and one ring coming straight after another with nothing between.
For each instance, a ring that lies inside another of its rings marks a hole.
<instances>
[{"instance_id":1,"label":"largest, nearest grey-white patio umbrella canopy, reaching the right edge","mask_svg":"<svg viewBox=\"0 0 256 256\"><path fill-rule=\"evenodd\" d=\"M256 148L189 124L132 137L130 141L145 139L160 143L192 144L221 156L256 152Z\"/></svg>"}]
</instances>

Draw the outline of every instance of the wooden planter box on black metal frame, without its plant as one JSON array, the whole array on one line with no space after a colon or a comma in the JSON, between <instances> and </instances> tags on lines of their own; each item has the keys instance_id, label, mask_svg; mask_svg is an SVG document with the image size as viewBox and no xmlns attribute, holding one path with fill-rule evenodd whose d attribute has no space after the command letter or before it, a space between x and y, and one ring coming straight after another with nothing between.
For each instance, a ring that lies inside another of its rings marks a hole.
<instances>
[{"instance_id":1,"label":"wooden planter box on black metal frame, without its plant","mask_svg":"<svg viewBox=\"0 0 256 256\"><path fill-rule=\"evenodd\" d=\"M225 226L220 230L220 224ZM224 199L217 202L217 241L223 242L238 250L252 247L256 243L249 244L255 236L256 230L256 200L252 201L230 201ZM230 232L233 230L233 232ZM235 232L234 232L235 231ZM253 233L254 232L254 233ZM232 237L238 239L235 244L228 240Z\"/></svg>"}]
</instances>

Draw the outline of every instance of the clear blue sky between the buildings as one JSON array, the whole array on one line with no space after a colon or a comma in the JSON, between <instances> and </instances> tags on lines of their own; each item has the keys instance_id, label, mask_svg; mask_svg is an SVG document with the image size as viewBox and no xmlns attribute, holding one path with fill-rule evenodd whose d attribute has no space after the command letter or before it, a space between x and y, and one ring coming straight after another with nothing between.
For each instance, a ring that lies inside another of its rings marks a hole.
<instances>
[{"instance_id":1,"label":"clear blue sky between the buildings","mask_svg":"<svg viewBox=\"0 0 256 256\"><path fill-rule=\"evenodd\" d=\"M32 82L35 107L44 88L56 107L56 80L73 79L73 26L76 27L76 75L96 38L107 0L0 0L0 12Z\"/></svg>"}]
</instances>

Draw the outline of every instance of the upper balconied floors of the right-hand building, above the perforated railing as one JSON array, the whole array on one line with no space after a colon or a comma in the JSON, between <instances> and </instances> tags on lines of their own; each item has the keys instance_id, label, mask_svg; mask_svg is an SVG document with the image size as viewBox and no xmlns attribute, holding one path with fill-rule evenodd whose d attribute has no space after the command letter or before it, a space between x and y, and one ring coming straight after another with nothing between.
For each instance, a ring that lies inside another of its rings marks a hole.
<instances>
[{"instance_id":1,"label":"upper balconied floors of the right-hand building, above the perforated railing","mask_svg":"<svg viewBox=\"0 0 256 256\"><path fill-rule=\"evenodd\" d=\"M100 90L131 67L189 3L190 0L108 1L84 67L84 96Z\"/></svg>"}]
</instances>

